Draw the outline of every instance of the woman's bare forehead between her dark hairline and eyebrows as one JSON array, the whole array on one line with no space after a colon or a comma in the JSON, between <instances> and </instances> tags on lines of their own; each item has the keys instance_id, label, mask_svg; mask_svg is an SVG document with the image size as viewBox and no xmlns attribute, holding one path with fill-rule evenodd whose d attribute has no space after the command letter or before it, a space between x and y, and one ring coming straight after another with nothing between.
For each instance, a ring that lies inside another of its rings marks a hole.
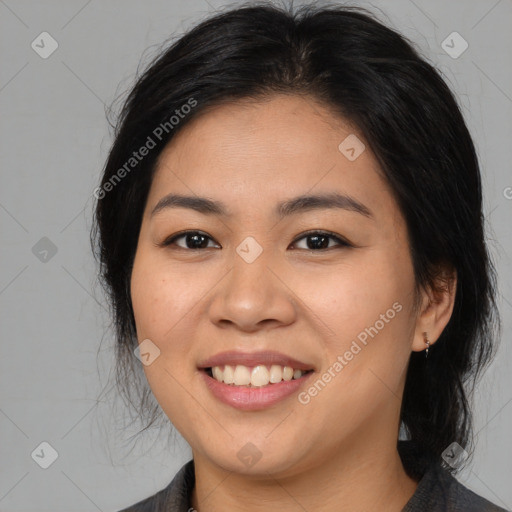
<instances>
[{"instance_id":1,"label":"woman's bare forehead between her dark hairline and eyebrows","mask_svg":"<svg viewBox=\"0 0 512 512\"><path fill-rule=\"evenodd\" d=\"M235 211L308 192L392 202L363 135L298 95L223 104L187 123L160 155L148 205L173 191L215 196Z\"/></svg>"}]
</instances>

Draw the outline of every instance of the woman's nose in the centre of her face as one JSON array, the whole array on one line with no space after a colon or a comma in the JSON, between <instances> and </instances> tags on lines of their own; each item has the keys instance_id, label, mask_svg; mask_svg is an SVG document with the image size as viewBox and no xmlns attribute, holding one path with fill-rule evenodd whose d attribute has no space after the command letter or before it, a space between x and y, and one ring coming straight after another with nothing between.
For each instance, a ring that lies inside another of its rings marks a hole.
<instances>
[{"instance_id":1,"label":"woman's nose in the centre of her face","mask_svg":"<svg viewBox=\"0 0 512 512\"><path fill-rule=\"evenodd\" d=\"M210 319L218 327L255 332L295 321L293 291L287 287L285 276L276 270L278 265L271 261L270 252L263 251L252 262L234 255L231 271L210 302Z\"/></svg>"}]
</instances>

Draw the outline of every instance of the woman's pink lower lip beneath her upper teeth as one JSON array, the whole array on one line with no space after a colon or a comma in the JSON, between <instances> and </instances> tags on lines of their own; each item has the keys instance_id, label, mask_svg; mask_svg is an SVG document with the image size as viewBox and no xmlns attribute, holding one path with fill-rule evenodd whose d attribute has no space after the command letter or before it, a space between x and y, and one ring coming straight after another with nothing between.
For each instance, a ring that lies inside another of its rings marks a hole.
<instances>
[{"instance_id":1,"label":"woman's pink lower lip beneath her upper teeth","mask_svg":"<svg viewBox=\"0 0 512 512\"><path fill-rule=\"evenodd\" d=\"M266 409L297 392L313 372L303 375L300 379L282 380L277 384L269 384L261 388L247 388L224 384L210 377L205 371L201 375L208 389L221 402L243 411Z\"/></svg>"}]
</instances>

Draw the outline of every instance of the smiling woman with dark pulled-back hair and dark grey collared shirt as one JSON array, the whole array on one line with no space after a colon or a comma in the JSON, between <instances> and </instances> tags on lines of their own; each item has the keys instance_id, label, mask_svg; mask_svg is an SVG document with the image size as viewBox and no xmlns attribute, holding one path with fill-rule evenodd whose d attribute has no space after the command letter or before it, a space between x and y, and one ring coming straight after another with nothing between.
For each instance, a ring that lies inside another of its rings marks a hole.
<instances>
[{"instance_id":1,"label":"smiling woman with dark pulled-back hair and dark grey collared shirt","mask_svg":"<svg viewBox=\"0 0 512 512\"><path fill-rule=\"evenodd\" d=\"M478 162L402 36L206 20L131 91L96 197L119 380L193 453L125 512L503 510L451 475L497 325Z\"/></svg>"}]
</instances>

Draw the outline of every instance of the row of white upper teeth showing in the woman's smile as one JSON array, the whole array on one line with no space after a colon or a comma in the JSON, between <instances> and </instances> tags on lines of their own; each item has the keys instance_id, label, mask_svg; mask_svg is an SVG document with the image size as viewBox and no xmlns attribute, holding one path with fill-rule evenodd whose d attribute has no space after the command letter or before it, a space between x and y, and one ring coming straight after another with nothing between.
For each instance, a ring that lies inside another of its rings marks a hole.
<instances>
[{"instance_id":1,"label":"row of white upper teeth showing in the woman's smile","mask_svg":"<svg viewBox=\"0 0 512 512\"><path fill-rule=\"evenodd\" d=\"M258 365L252 368L241 364L235 367L225 365L224 369L220 366L214 366L212 369L213 378L224 384L235 386L262 387L268 384L277 384L278 382L300 379L306 372L294 370L290 366L280 366L273 364L268 368L265 365Z\"/></svg>"}]
</instances>

